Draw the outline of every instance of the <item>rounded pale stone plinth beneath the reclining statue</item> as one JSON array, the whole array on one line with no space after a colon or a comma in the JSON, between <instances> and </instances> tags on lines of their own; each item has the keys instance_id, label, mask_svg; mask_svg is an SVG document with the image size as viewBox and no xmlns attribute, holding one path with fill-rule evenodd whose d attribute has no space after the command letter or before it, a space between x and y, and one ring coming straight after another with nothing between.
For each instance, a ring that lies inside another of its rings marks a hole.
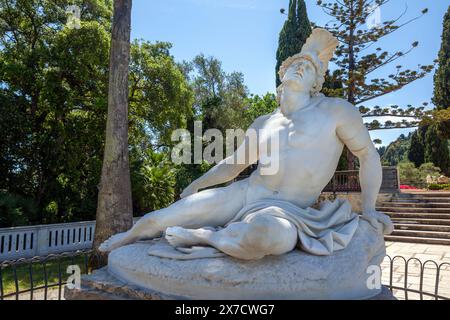
<instances>
[{"instance_id":1,"label":"rounded pale stone plinth beneath the reclining statue","mask_svg":"<svg viewBox=\"0 0 450 320\"><path fill-rule=\"evenodd\" d=\"M257 261L172 260L148 255L156 244L114 250L108 272L129 285L181 299L370 299L381 293L368 288L374 274L367 271L385 257L384 239L363 220L348 247L331 256L294 250Z\"/></svg>"}]
</instances>

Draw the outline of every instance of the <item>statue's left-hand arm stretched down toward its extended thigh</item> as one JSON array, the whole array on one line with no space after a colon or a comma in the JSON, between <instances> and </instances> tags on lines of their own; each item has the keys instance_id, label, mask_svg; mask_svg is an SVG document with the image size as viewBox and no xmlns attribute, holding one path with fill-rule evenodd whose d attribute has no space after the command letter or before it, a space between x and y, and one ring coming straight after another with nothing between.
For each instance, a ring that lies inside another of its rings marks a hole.
<instances>
[{"instance_id":1,"label":"statue's left-hand arm stretched down toward its extended thigh","mask_svg":"<svg viewBox=\"0 0 450 320\"><path fill-rule=\"evenodd\" d=\"M181 194L185 198L197 193L199 189L212 187L236 178L248 166L258 161L258 143L255 136L257 121L247 130L244 140L236 151L220 161L203 176L192 182Z\"/></svg>"}]
</instances>

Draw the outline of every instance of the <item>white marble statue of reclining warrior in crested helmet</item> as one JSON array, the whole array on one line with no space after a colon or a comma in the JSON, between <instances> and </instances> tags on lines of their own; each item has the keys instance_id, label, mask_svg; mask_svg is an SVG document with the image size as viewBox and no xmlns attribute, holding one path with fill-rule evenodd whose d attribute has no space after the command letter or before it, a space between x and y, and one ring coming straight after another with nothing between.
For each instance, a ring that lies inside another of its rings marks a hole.
<instances>
[{"instance_id":1,"label":"white marble statue of reclining warrior in crested helmet","mask_svg":"<svg viewBox=\"0 0 450 320\"><path fill-rule=\"evenodd\" d=\"M278 134L279 169L274 174L263 174L260 162L249 178L210 188L233 181L263 156L249 152L245 139L231 156L245 154L245 163L219 162L192 182L181 200L145 215L131 230L105 241L100 250L110 252L164 236L180 256L188 258L225 254L256 260L296 247L327 256L348 246L361 219L381 235L391 233L389 217L375 210L382 168L360 113L343 99L320 94L337 45L328 31L314 29L301 52L280 68L279 109L256 119L249 128ZM263 140L259 137L258 143ZM334 175L344 145L360 162L361 218L345 200L313 208ZM164 250L150 254L177 258Z\"/></svg>"}]
</instances>

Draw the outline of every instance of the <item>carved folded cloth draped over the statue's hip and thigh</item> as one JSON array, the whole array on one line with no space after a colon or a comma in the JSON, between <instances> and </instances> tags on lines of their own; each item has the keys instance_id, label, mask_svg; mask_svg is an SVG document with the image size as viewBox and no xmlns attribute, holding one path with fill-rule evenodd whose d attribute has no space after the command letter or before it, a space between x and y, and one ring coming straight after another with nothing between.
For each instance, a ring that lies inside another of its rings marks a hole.
<instances>
[{"instance_id":1,"label":"carved folded cloth draped over the statue's hip and thigh","mask_svg":"<svg viewBox=\"0 0 450 320\"><path fill-rule=\"evenodd\" d=\"M248 204L231 220L250 222L257 216L284 218L297 227L301 250L314 255L330 255L345 249L358 228L359 217L347 200L324 201L320 209L302 209L290 202L261 200Z\"/></svg>"}]
</instances>

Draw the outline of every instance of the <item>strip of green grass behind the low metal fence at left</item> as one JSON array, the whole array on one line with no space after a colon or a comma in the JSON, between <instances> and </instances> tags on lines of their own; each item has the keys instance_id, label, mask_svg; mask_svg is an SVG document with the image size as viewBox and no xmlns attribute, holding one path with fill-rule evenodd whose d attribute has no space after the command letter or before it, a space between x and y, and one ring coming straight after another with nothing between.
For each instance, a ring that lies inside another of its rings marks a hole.
<instances>
[{"instance_id":1,"label":"strip of green grass behind the low metal fence at left","mask_svg":"<svg viewBox=\"0 0 450 320\"><path fill-rule=\"evenodd\" d=\"M78 265L81 273L85 273L84 256L55 258L44 262L35 262L31 264L33 276L33 288L45 285L45 273L47 273L47 284L54 285L59 283L59 268L61 270L61 282L66 282L70 274L66 273L67 267L70 265ZM45 266L45 268L44 268ZM60 266L60 267L59 267ZM30 264L17 265L16 275L19 291L31 289ZM1 279L3 284L3 294L8 295L16 292L16 284L14 278L14 267L4 267ZM54 287L54 288L57 288Z\"/></svg>"}]
</instances>

